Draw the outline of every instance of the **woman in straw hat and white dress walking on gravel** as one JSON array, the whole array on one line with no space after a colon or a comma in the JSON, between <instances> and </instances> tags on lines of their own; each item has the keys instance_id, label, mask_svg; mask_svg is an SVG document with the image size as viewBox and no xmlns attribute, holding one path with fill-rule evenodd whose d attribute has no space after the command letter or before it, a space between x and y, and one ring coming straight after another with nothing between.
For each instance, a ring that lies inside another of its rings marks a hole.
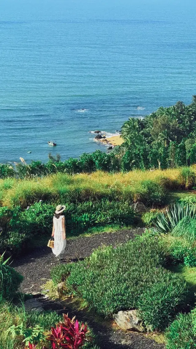
<instances>
[{"instance_id":1,"label":"woman in straw hat and white dress walking on gravel","mask_svg":"<svg viewBox=\"0 0 196 349\"><path fill-rule=\"evenodd\" d=\"M54 248L52 248L52 252L55 254L58 260L61 259L60 254L65 252L65 247L67 244L65 216L61 215L64 210L65 206L56 206L56 211L53 217L52 236L54 236Z\"/></svg>"}]
</instances>

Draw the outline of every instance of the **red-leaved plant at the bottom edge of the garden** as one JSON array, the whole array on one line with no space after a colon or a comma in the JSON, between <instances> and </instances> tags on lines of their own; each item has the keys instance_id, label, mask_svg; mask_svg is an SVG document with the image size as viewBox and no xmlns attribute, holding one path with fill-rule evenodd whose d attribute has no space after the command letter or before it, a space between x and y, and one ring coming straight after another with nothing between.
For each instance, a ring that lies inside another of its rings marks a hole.
<instances>
[{"instance_id":1,"label":"red-leaved plant at the bottom edge of the garden","mask_svg":"<svg viewBox=\"0 0 196 349\"><path fill-rule=\"evenodd\" d=\"M79 326L75 317L71 320L68 314L63 314L64 322L59 322L56 328L52 327L52 333L47 337L51 342L52 349L78 349L83 346L83 342L88 333L87 326Z\"/></svg>"}]
</instances>

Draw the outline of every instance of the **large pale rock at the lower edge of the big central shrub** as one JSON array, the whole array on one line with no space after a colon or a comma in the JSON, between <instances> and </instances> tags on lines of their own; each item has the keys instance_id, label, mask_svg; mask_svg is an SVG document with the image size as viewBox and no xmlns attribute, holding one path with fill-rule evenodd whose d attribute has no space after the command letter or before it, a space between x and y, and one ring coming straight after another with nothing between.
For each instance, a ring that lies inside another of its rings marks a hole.
<instances>
[{"instance_id":1,"label":"large pale rock at the lower edge of the big central shrub","mask_svg":"<svg viewBox=\"0 0 196 349\"><path fill-rule=\"evenodd\" d=\"M123 330L135 329L144 332L142 319L138 316L136 310L119 311L115 316L116 324Z\"/></svg>"}]
</instances>

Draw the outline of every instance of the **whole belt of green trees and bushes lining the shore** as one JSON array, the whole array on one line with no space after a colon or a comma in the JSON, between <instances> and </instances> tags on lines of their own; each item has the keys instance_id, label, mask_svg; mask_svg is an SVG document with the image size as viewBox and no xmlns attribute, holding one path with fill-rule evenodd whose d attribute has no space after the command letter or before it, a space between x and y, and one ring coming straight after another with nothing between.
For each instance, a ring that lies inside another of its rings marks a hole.
<instances>
[{"instance_id":1,"label":"whole belt of green trees and bushes lining the shore","mask_svg":"<svg viewBox=\"0 0 196 349\"><path fill-rule=\"evenodd\" d=\"M50 155L47 163L38 160L27 165L23 161L15 167L0 164L0 178L190 166L196 162L196 95L190 105L179 101L145 118L129 118L122 125L121 137L121 146L108 154L96 150L66 161L61 161L58 154L56 158Z\"/></svg>"}]
</instances>

